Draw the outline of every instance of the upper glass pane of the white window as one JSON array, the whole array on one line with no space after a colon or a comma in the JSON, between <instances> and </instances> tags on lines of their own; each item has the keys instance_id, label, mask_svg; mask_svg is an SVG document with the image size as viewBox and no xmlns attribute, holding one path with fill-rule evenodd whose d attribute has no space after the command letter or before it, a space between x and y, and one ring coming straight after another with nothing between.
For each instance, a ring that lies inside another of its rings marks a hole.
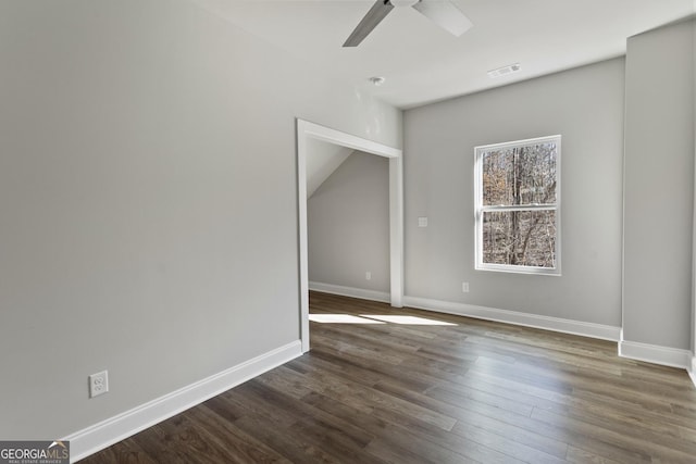
<instances>
[{"instance_id":1,"label":"upper glass pane of the white window","mask_svg":"<svg viewBox=\"0 0 696 464\"><path fill-rule=\"evenodd\" d=\"M556 156L555 142L482 153L483 204L556 203Z\"/></svg>"}]
</instances>

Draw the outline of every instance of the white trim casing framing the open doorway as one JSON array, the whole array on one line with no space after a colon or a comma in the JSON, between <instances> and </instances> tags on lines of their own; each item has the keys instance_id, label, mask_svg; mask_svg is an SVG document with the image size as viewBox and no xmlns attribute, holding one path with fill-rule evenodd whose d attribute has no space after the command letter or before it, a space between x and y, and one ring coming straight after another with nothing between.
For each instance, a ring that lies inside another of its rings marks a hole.
<instances>
[{"instance_id":1,"label":"white trim casing framing the open doorway","mask_svg":"<svg viewBox=\"0 0 696 464\"><path fill-rule=\"evenodd\" d=\"M403 164L399 149L340 130L297 120L297 192L299 224L300 338L302 352L309 351L309 259L307 239L307 153L310 140L320 140L389 161L389 302L403 300Z\"/></svg>"}]
</instances>

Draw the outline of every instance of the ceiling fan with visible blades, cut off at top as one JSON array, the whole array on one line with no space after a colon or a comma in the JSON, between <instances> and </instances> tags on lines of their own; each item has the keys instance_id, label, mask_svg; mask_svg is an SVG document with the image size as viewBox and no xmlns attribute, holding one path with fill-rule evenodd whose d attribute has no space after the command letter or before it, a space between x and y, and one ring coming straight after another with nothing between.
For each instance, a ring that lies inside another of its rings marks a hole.
<instances>
[{"instance_id":1,"label":"ceiling fan with visible blades, cut off at top","mask_svg":"<svg viewBox=\"0 0 696 464\"><path fill-rule=\"evenodd\" d=\"M377 0L350 34L344 47L357 47L395 7L411 7L457 37L473 26L471 21L449 0Z\"/></svg>"}]
</instances>

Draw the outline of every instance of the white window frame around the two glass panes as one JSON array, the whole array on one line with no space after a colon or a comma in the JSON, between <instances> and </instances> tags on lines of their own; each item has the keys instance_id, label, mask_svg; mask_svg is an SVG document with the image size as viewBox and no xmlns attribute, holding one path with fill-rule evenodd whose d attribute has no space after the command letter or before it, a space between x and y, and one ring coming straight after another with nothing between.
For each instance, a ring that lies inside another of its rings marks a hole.
<instances>
[{"instance_id":1,"label":"white window frame around the two glass panes","mask_svg":"<svg viewBox=\"0 0 696 464\"><path fill-rule=\"evenodd\" d=\"M492 150L507 150L518 147L526 147L538 143L556 143L556 204L524 204L524 205L484 205L483 204L483 158L484 153ZM474 147L474 213L475 213L475 269L494 271L513 274L532 275L561 275L561 136L536 137L523 140L513 140L502 143L490 143ZM517 264L496 264L483 262L483 216L485 212L511 212L511 211L555 211L556 240L555 240L555 267L524 266Z\"/></svg>"}]
</instances>

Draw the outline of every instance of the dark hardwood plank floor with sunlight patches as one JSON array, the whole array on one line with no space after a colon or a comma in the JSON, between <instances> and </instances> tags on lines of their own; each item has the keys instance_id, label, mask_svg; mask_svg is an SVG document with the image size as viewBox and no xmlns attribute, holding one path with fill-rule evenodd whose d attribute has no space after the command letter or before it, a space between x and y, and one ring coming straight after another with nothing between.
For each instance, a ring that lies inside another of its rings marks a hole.
<instances>
[{"instance_id":1,"label":"dark hardwood plank floor with sunlight patches","mask_svg":"<svg viewBox=\"0 0 696 464\"><path fill-rule=\"evenodd\" d=\"M696 463L684 371L612 342L310 301L360 318L312 322L310 353L83 463ZM396 315L410 318L371 317Z\"/></svg>"}]
</instances>

